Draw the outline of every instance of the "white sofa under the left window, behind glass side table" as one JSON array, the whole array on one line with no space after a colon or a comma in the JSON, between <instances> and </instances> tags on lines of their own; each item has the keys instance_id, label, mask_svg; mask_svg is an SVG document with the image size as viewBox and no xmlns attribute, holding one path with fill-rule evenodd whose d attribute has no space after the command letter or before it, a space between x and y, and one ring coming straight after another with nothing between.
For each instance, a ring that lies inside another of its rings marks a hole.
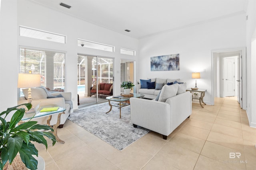
<instances>
[{"instance_id":1,"label":"white sofa under the left window, behind glass side table","mask_svg":"<svg viewBox=\"0 0 256 170\"><path fill-rule=\"evenodd\" d=\"M28 103L26 96L28 96L28 89L22 89L24 97L20 97L18 101L18 105ZM62 95L63 97L53 98L54 96ZM49 105L57 105L59 107L65 108L65 114L60 116L60 128L63 127L66 119L73 112L73 104L72 104L72 95L71 92L57 92L57 93L49 93L48 90L44 87L31 88L31 96L32 96L32 106L36 107L39 103L40 106L49 106ZM46 124L48 117L35 118L35 121L38 121L39 124ZM50 125L54 125L57 123L58 115L52 115L52 119L50 121Z\"/></svg>"}]
</instances>

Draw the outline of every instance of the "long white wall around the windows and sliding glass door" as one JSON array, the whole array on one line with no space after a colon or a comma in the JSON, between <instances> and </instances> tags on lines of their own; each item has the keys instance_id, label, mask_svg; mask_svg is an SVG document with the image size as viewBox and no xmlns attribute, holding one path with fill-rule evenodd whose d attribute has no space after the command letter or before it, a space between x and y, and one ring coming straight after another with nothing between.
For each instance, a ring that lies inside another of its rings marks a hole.
<instances>
[{"instance_id":1,"label":"long white wall around the windows and sliding glass door","mask_svg":"<svg viewBox=\"0 0 256 170\"><path fill-rule=\"evenodd\" d=\"M14 6L13 6L14 5ZM138 51L138 40L99 27L86 21L54 11L28 0L2 0L1 5L1 67L0 67L0 111L17 104L17 77L19 72L19 45L42 49L65 51L66 90L72 92L74 109L77 106L77 54L98 55L114 58L114 93L120 93L120 59L136 61L138 56L120 54L120 47ZM2 21L3 19L3 21ZM18 25L41 29L67 36L67 43L55 43L18 36ZM115 52L78 47L77 39L115 46ZM4 42L4 44L3 44ZM6 63L6 64L2 64ZM4 71L4 72L2 72ZM8 74L6 74L8 73ZM8 84L7 78L11 78ZM8 91L9 90L9 91ZM8 97L6 100L5 97Z\"/></svg>"}]
</instances>

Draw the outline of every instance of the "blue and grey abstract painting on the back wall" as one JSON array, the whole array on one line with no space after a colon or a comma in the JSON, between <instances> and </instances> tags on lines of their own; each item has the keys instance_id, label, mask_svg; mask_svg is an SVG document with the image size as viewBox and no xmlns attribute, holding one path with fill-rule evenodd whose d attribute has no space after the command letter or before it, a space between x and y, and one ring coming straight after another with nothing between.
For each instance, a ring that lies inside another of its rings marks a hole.
<instances>
[{"instance_id":1,"label":"blue and grey abstract painting on the back wall","mask_svg":"<svg viewBox=\"0 0 256 170\"><path fill-rule=\"evenodd\" d=\"M180 70L180 55L162 55L150 58L151 71Z\"/></svg>"}]
</instances>

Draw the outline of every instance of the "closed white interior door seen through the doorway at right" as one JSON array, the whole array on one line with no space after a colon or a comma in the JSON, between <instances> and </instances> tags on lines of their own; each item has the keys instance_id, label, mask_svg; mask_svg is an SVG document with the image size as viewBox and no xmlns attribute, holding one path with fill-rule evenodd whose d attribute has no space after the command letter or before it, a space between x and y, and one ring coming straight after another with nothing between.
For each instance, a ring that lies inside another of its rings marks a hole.
<instances>
[{"instance_id":1,"label":"closed white interior door seen through the doorway at right","mask_svg":"<svg viewBox=\"0 0 256 170\"><path fill-rule=\"evenodd\" d=\"M234 58L225 57L223 62L223 79L224 79L224 97L235 96L234 88Z\"/></svg>"}]
</instances>

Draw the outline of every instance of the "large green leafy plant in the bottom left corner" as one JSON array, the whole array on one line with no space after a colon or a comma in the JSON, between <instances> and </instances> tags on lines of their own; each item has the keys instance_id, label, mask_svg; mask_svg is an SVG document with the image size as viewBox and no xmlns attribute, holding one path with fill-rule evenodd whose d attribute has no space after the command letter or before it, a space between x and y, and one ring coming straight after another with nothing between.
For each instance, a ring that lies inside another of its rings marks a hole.
<instances>
[{"instance_id":1,"label":"large green leafy plant in the bottom left corner","mask_svg":"<svg viewBox=\"0 0 256 170\"><path fill-rule=\"evenodd\" d=\"M26 106L28 110L32 107L29 103L22 105ZM18 108L22 105L10 107L0 113L0 170L3 169L5 164L8 164L8 161L9 164L12 164L18 153L27 168L36 170L37 160L32 155L38 156L38 150L30 141L42 143L46 146L46 149L48 145L44 136L52 140L52 145L56 143L55 136L50 132L53 129L48 125L38 125L36 124L37 121L31 121L31 119L18 125L25 113L24 108ZM12 118L10 121L6 121L6 116L11 112L14 112ZM36 129L48 132L36 131Z\"/></svg>"}]
</instances>

